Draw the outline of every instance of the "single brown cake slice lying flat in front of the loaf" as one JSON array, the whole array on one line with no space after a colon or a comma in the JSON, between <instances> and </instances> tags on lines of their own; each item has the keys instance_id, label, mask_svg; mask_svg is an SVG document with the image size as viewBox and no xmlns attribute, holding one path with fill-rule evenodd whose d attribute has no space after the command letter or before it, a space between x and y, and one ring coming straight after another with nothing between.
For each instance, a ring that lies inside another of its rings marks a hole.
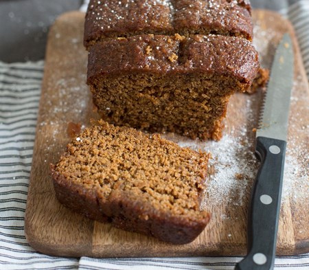
<instances>
[{"instance_id":1,"label":"single brown cake slice lying flat in front of the loaf","mask_svg":"<svg viewBox=\"0 0 309 270\"><path fill-rule=\"evenodd\" d=\"M200 209L208 158L157 134L100 120L75 137L51 169L56 196L69 209L184 244L209 221Z\"/></svg>"}]
</instances>

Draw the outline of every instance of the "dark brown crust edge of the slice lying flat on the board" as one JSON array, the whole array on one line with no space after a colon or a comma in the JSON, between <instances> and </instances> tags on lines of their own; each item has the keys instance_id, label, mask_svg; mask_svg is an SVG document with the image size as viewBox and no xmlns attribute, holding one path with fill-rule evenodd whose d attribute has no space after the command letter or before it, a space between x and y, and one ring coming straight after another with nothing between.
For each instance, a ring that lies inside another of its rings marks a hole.
<instances>
[{"instance_id":1,"label":"dark brown crust edge of the slice lying flat on the board","mask_svg":"<svg viewBox=\"0 0 309 270\"><path fill-rule=\"evenodd\" d=\"M110 203L100 204L98 200L100 194L86 191L81 185L69 183L62 175L55 172L54 166L51 166L51 168L58 201L70 210L94 221L111 223L118 229L154 236L159 240L176 245L192 242L209 223L209 214L205 214L199 222L188 222L185 219L175 217L169 218L167 222L165 217L159 214L152 219L138 218L141 214L145 216L150 212L145 210L144 205L138 203L138 201L133 205L125 194L119 194ZM113 215L106 216L104 214L106 211L112 211Z\"/></svg>"}]
</instances>

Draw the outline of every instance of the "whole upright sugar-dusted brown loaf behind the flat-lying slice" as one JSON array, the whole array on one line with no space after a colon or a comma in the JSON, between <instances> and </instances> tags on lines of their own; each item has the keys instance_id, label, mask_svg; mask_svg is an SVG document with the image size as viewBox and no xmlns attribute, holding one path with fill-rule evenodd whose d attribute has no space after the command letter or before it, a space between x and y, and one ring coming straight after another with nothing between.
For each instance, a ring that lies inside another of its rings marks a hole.
<instances>
[{"instance_id":1,"label":"whole upright sugar-dusted brown loaf behind the flat-lying slice","mask_svg":"<svg viewBox=\"0 0 309 270\"><path fill-rule=\"evenodd\" d=\"M220 139L233 93L260 69L248 1L91 1L87 84L102 118Z\"/></svg>"}]
</instances>

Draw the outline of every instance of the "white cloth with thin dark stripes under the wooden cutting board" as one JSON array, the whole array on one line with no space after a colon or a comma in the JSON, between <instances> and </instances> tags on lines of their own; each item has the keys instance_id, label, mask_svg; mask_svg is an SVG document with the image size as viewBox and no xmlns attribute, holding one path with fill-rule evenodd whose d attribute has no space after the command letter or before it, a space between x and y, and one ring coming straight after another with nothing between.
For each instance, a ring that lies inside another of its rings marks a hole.
<instances>
[{"instance_id":1,"label":"white cloth with thin dark stripes under the wooden cutting board","mask_svg":"<svg viewBox=\"0 0 309 270\"><path fill-rule=\"evenodd\" d=\"M309 1L282 10L295 25L309 75ZM240 257L60 258L34 251L27 243L27 201L43 61L0 62L0 269L233 269ZM309 254L277 257L275 269L309 269Z\"/></svg>"}]
</instances>

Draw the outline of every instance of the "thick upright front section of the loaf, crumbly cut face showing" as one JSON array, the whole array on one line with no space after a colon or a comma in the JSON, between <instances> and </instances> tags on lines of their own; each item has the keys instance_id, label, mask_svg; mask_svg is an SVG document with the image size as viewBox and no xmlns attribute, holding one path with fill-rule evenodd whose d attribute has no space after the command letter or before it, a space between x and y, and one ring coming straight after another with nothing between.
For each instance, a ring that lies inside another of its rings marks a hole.
<instances>
[{"instance_id":1,"label":"thick upright front section of the loaf, crumbly cut face showing","mask_svg":"<svg viewBox=\"0 0 309 270\"><path fill-rule=\"evenodd\" d=\"M244 38L149 34L91 46L87 84L108 122L220 139L230 96L246 91L259 68Z\"/></svg>"}]
</instances>

